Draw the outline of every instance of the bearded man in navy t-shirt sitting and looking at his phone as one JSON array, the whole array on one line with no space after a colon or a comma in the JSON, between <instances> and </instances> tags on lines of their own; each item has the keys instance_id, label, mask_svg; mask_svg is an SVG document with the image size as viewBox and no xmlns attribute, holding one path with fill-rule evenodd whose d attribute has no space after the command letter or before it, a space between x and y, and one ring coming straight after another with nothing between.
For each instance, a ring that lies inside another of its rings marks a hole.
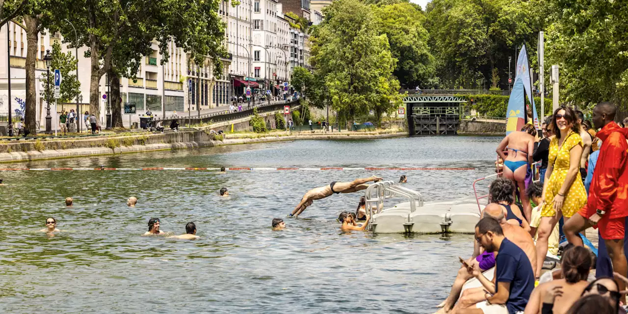
<instances>
[{"instance_id":1,"label":"bearded man in navy t-shirt sitting and looking at his phone","mask_svg":"<svg viewBox=\"0 0 628 314\"><path fill-rule=\"evenodd\" d=\"M523 312L534 289L532 265L516 244L502 232L497 220L485 217L475 225L475 239L495 256L495 283L486 279L479 268L469 269L486 290L486 301L462 310L463 313L497 314Z\"/></svg>"}]
</instances>

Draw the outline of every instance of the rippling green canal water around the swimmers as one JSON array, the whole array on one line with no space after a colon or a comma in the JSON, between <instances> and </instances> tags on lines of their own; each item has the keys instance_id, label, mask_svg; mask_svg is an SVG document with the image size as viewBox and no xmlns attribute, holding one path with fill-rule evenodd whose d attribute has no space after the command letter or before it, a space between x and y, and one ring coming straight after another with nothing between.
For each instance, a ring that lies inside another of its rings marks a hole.
<instances>
[{"instance_id":1,"label":"rippling green canal water around the swimmers","mask_svg":"<svg viewBox=\"0 0 628 314\"><path fill-rule=\"evenodd\" d=\"M433 313L472 236L342 234L360 194L316 201L271 230L310 188L408 176L427 202L473 194L494 173L499 138L294 141L6 164L85 167L445 167L421 171L0 172L1 313ZM219 197L226 187L230 197ZM129 196L138 207L126 207ZM66 208L63 199L73 197ZM65 230L37 232L46 217ZM142 237L161 230L198 241Z\"/></svg>"}]
</instances>

